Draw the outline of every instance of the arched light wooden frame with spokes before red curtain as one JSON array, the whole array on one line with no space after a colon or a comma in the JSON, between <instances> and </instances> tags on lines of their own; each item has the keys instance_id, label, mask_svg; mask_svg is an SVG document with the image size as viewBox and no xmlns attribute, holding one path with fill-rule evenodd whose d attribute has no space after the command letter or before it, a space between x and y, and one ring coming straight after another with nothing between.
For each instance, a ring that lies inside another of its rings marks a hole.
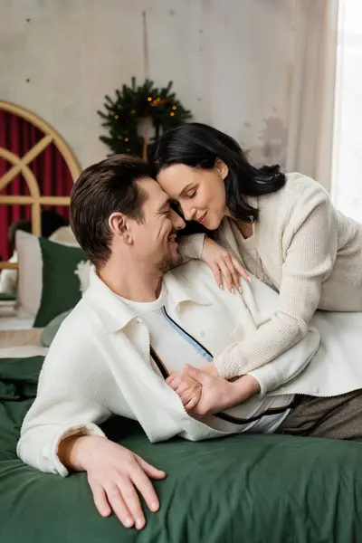
<instances>
[{"instance_id":1,"label":"arched light wooden frame with spokes before red curtain","mask_svg":"<svg viewBox=\"0 0 362 543\"><path fill-rule=\"evenodd\" d=\"M62 158L71 173L73 182L80 175L81 166L62 136L53 129L49 123L35 115L35 113L4 100L0 100L0 111L5 111L20 119L26 120L42 133L42 138L40 138L32 148L27 149L22 157L15 154L12 150L0 147L0 160L4 159L11 165L5 175L0 176L0 205L31 205L32 231L35 235L41 235L42 205L70 205L70 197L42 195L41 184L38 179L36 179L33 169L29 167L29 165L35 157L38 157L43 153L45 148L53 145L62 155ZM19 174L24 177L26 185L28 186L29 195L5 195L5 186L12 183L14 178L19 176ZM17 268L17 264L0 262L0 269L3 268Z\"/></svg>"}]
</instances>

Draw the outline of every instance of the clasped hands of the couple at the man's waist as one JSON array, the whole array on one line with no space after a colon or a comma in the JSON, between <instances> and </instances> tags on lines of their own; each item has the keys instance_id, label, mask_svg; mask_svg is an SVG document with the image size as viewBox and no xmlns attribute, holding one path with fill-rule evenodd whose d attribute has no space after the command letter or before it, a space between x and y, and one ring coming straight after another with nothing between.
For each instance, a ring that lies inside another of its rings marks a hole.
<instances>
[{"instance_id":1,"label":"clasped hands of the couple at the man's waist","mask_svg":"<svg viewBox=\"0 0 362 543\"><path fill-rule=\"evenodd\" d=\"M219 376L214 364L202 369L186 364L182 373L167 377L166 382L180 397L186 412L199 417L243 404L260 392L254 377L245 375L230 382Z\"/></svg>"}]
</instances>

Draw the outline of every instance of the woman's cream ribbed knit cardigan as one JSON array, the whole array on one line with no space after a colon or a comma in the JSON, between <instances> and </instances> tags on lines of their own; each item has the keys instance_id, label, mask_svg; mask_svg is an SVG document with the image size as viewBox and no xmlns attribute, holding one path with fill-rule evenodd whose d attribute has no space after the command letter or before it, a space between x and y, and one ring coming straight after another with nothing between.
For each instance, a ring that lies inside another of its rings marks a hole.
<instances>
[{"instance_id":1,"label":"woman's cream ribbed knit cardigan","mask_svg":"<svg viewBox=\"0 0 362 543\"><path fill-rule=\"evenodd\" d=\"M230 378L271 361L308 330L315 310L362 311L362 224L338 212L316 181L288 174L281 190L249 198L258 208L253 225L255 253L230 218L215 241L249 262L249 270L280 292L267 326L245 338L214 364ZM183 253L199 258L201 234L183 238ZM248 240L249 242L250 240Z\"/></svg>"}]
</instances>

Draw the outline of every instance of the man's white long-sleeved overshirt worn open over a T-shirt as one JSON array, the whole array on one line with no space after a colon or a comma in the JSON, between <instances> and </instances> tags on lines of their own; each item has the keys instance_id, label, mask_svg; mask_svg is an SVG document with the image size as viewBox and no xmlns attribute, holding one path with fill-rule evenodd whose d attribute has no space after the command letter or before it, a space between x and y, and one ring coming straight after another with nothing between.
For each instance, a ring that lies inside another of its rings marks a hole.
<instances>
[{"instance_id":1,"label":"man's white long-sleeved overshirt worn open over a T-shirt","mask_svg":"<svg viewBox=\"0 0 362 543\"><path fill-rule=\"evenodd\" d=\"M256 279L252 286L244 284L243 295L220 291L204 262L180 266L164 281L182 326L201 341L206 334L212 352L223 319L233 319L231 340L238 341L265 326L278 301L278 295ZM333 322L327 323L326 331L334 335ZM311 327L295 348L255 370L262 393L296 376L318 348L319 333ZM344 348L342 343L339 348ZM318 364L311 362L290 386L273 394L332 395L362 387L360 351L359 346L358 360L350 357L349 365L337 349L334 358L328 349L320 351ZM110 414L138 420L152 442L176 434L189 440L224 435L186 414L179 397L151 367L146 325L91 272L90 288L64 320L45 358L17 453L43 472L66 475L57 456L58 443L74 432L102 435L99 424Z\"/></svg>"}]
</instances>

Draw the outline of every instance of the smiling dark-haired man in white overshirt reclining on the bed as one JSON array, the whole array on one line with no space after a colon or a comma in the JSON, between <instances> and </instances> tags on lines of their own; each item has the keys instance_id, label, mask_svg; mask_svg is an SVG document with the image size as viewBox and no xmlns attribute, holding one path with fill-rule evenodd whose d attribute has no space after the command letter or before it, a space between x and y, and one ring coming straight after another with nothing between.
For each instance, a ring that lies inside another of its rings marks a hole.
<instances>
[{"instance_id":1,"label":"smiling dark-haired man in white overshirt reclining on the bed","mask_svg":"<svg viewBox=\"0 0 362 543\"><path fill-rule=\"evenodd\" d=\"M243 296L221 291L203 262L165 273L181 262L176 232L185 224L140 159L110 157L87 168L73 187L71 225L96 271L52 342L17 452L43 472L87 472L100 514L114 511L124 526L142 529L137 491L156 511L149 478L165 473L111 443L99 425L110 414L137 419L153 442L274 432L287 421L295 390L264 393L308 365L319 333L310 329L295 348L234 383L194 372L184 383L190 400L180 401L182 383L170 374L186 362L212 368L214 353L268 319L252 287L245 282ZM272 305L277 295L258 284ZM353 378L362 386L361 374ZM309 394L305 381L295 389Z\"/></svg>"}]
</instances>

